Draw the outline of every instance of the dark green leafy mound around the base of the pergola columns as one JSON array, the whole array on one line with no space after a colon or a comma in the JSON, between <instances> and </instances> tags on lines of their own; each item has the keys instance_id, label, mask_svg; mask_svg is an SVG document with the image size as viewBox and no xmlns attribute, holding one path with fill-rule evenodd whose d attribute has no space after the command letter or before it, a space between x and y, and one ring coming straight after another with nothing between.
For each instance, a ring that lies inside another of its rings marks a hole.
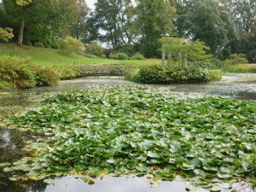
<instances>
[{"instance_id":1,"label":"dark green leafy mound around the base of the pergola columns","mask_svg":"<svg viewBox=\"0 0 256 192\"><path fill-rule=\"evenodd\" d=\"M209 73L201 67L143 67L137 82L144 84L161 83L202 83L209 81Z\"/></svg>"}]
</instances>

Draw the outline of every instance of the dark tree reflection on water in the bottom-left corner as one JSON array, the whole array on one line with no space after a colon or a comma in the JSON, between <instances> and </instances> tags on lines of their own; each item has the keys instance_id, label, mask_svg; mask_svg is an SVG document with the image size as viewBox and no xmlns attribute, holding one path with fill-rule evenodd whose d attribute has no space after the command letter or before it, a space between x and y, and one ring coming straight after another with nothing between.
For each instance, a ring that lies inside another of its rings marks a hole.
<instances>
[{"instance_id":1,"label":"dark tree reflection on water in the bottom-left corner","mask_svg":"<svg viewBox=\"0 0 256 192\"><path fill-rule=\"evenodd\" d=\"M13 182L9 180L9 177L18 174L18 172L3 172L3 170L0 172L0 181L7 184L0 183L0 192L44 192L47 187L44 179Z\"/></svg>"}]
</instances>

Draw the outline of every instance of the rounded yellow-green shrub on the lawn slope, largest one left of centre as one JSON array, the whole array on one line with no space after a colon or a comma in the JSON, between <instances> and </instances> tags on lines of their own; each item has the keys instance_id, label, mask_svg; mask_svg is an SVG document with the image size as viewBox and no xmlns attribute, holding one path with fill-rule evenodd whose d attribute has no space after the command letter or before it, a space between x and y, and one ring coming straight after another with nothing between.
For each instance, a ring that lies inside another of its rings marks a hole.
<instances>
[{"instance_id":1,"label":"rounded yellow-green shrub on the lawn slope, largest one left of centre","mask_svg":"<svg viewBox=\"0 0 256 192\"><path fill-rule=\"evenodd\" d=\"M84 55L84 44L77 38L60 38L58 49L61 49L61 51L67 55L70 53Z\"/></svg>"}]
</instances>

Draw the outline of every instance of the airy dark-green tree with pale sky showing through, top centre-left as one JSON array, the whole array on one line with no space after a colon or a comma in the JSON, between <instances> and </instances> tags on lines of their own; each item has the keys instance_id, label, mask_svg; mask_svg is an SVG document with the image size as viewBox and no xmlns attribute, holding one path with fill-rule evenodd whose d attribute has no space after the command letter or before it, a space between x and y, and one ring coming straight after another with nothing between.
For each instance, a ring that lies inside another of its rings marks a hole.
<instances>
[{"instance_id":1,"label":"airy dark-green tree with pale sky showing through, top centre-left","mask_svg":"<svg viewBox=\"0 0 256 192\"><path fill-rule=\"evenodd\" d=\"M131 0L97 0L95 10L90 14L89 25L97 35L90 32L90 41L98 39L110 43L112 47L120 41L130 43L132 39L129 30L131 26ZM104 32L101 34L100 31Z\"/></svg>"}]
</instances>

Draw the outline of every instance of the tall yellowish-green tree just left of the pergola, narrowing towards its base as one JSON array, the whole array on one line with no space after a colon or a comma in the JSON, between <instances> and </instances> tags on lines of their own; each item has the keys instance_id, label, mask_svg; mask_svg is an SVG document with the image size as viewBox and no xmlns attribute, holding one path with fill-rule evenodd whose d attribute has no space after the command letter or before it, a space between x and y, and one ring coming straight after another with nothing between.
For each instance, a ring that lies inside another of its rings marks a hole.
<instances>
[{"instance_id":1,"label":"tall yellowish-green tree just left of the pergola, narrowing towards its base","mask_svg":"<svg viewBox=\"0 0 256 192\"><path fill-rule=\"evenodd\" d=\"M143 55L155 57L161 36L172 33L176 9L165 0L136 0L135 31L142 36Z\"/></svg>"}]
</instances>

